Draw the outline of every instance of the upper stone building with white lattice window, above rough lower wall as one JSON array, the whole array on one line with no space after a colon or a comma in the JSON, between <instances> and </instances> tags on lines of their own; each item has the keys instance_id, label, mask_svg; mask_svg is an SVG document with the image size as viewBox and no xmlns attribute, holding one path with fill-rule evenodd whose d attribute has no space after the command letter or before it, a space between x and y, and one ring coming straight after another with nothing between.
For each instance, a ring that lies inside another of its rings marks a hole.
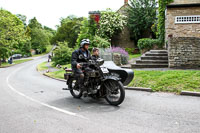
<instances>
[{"instance_id":1,"label":"upper stone building with white lattice window, above rough lower wall","mask_svg":"<svg viewBox=\"0 0 200 133\"><path fill-rule=\"evenodd\" d=\"M200 0L174 0L167 6L166 37L200 37Z\"/></svg>"}]
</instances>

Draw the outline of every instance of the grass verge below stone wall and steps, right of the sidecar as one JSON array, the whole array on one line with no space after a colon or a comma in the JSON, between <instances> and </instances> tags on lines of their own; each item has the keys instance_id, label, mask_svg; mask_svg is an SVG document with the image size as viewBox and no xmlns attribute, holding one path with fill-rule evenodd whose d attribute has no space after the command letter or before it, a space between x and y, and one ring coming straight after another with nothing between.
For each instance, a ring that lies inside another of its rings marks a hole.
<instances>
[{"instance_id":1,"label":"grass verge below stone wall and steps, right of the sidecar","mask_svg":"<svg viewBox=\"0 0 200 133\"><path fill-rule=\"evenodd\" d=\"M181 90L200 92L200 71L169 70L143 71L134 70L134 80L128 85L152 88L153 91L176 92Z\"/></svg>"}]
</instances>

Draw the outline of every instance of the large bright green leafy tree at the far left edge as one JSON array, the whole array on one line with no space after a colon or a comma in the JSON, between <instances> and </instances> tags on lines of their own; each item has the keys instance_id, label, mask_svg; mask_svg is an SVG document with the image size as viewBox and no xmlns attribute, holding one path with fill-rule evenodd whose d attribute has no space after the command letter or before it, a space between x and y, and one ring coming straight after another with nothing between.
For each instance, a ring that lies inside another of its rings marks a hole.
<instances>
[{"instance_id":1,"label":"large bright green leafy tree at the far left edge","mask_svg":"<svg viewBox=\"0 0 200 133\"><path fill-rule=\"evenodd\" d=\"M0 9L0 64L12 50L18 50L29 40L22 21L9 11Z\"/></svg>"}]
</instances>

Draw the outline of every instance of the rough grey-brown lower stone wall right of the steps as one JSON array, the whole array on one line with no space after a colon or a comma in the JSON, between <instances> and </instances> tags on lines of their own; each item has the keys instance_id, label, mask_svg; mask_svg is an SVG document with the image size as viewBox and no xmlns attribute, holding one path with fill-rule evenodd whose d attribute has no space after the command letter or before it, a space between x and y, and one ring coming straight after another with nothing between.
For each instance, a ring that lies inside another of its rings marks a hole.
<instances>
[{"instance_id":1,"label":"rough grey-brown lower stone wall right of the steps","mask_svg":"<svg viewBox=\"0 0 200 133\"><path fill-rule=\"evenodd\" d=\"M200 68L200 38L172 37L168 51L170 68Z\"/></svg>"}]
</instances>

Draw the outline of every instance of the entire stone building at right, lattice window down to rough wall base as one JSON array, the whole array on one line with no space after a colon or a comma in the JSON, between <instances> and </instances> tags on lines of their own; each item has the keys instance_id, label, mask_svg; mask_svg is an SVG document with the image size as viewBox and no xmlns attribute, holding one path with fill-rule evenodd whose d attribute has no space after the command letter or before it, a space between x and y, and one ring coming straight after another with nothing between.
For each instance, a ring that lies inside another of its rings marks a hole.
<instances>
[{"instance_id":1,"label":"entire stone building at right, lattice window down to rough wall base","mask_svg":"<svg viewBox=\"0 0 200 133\"><path fill-rule=\"evenodd\" d=\"M169 67L200 67L200 0L174 0L166 10Z\"/></svg>"}]
</instances>

